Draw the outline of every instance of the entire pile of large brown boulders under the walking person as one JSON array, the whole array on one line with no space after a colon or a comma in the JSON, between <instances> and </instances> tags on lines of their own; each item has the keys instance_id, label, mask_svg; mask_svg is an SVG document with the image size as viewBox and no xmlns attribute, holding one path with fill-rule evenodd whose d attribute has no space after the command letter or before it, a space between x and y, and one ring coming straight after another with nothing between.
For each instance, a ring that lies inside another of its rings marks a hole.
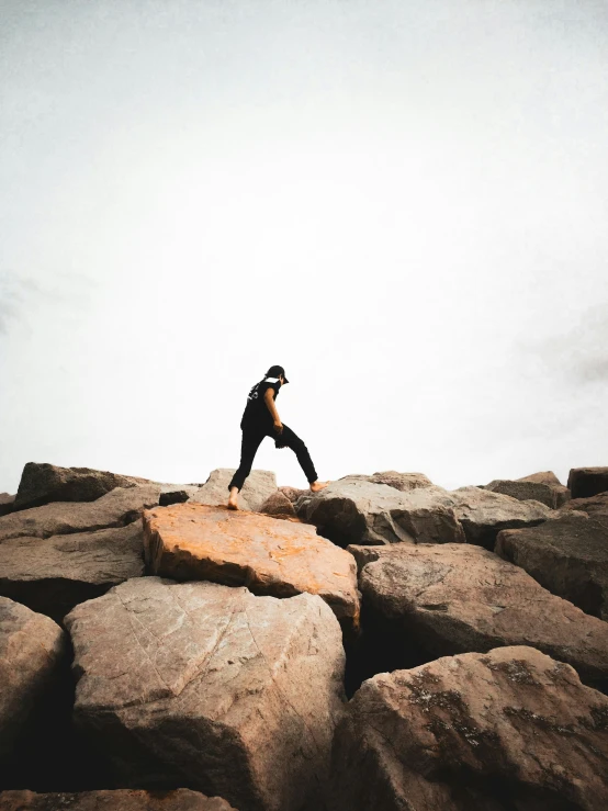
<instances>
[{"instance_id":1,"label":"entire pile of large brown boulders under the walking person","mask_svg":"<svg viewBox=\"0 0 608 811\"><path fill-rule=\"evenodd\" d=\"M0 809L608 808L608 469L233 472L0 496Z\"/></svg>"}]
</instances>

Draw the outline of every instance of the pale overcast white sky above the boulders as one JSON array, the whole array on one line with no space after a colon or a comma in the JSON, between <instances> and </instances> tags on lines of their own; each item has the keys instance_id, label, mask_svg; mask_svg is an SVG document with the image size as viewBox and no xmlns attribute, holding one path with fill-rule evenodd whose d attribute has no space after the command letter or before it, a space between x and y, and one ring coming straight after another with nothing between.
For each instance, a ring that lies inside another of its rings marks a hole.
<instances>
[{"instance_id":1,"label":"pale overcast white sky above the boulders","mask_svg":"<svg viewBox=\"0 0 608 811\"><path fill-rule=\"evenodd\" d=\"M236 468L275 363L323 480L608 465L604 0L0 19L0 492Z\"/></svg>"}]
</instances>

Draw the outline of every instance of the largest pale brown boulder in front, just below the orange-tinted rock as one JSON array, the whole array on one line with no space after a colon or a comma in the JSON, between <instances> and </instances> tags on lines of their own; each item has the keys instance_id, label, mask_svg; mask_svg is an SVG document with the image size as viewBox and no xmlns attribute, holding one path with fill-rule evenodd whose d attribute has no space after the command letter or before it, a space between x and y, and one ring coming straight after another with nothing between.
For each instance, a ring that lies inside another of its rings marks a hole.
<instances>
[{"instance_id":1,"label":"largest pale brown boulder in front, just below the orange-tinted rock","mask_svg":"<svg viewBox=\"0 0 608 811\"><path fill-rule=\"evenodd\" d=\"M177 784L244 811L322 807L345 655L319 597L139 577L66 624L76 721L122 786Z\"/></svg>"}]
</instances>

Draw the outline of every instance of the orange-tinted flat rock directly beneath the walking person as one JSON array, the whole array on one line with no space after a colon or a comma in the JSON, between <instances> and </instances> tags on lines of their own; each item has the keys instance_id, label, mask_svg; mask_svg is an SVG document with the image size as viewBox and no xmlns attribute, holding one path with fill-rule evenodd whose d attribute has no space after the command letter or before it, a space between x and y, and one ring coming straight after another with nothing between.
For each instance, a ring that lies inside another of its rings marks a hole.
<instances>
[{"instance_id":1,"label":"orange-tinted flat rock directly beneath the walking person","mask_svg":"<svg viewBox=\"0 0 608 811\"><path fill-rule=\"evenodd\" d=\"M354 560L314 527L189 503L144 512L144 536L154 574L273 597L318 594L338 619L358 621Z\"/></svg>"}]
</instances>

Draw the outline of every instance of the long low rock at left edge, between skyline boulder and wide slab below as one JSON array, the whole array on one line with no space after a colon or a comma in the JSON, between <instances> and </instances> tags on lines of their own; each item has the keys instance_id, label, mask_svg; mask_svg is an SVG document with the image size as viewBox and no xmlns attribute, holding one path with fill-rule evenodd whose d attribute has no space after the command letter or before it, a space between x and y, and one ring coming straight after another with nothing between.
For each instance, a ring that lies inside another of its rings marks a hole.
<instances>
[{"instance_id":1,"label":"long low rock at left edge, between skyline boulder and wide slab below","mask_svg":"<svg viewBox=\"0 0 608 811\"><path fill-rule=\"evenodd\" d=\"M89 532L124 527L139 518L143 509L158 504L160 486L116 487L97 502L55 502L0 518L0 542L8 538L49 538L69 532Z\"/></svg>"}]
</instances>

